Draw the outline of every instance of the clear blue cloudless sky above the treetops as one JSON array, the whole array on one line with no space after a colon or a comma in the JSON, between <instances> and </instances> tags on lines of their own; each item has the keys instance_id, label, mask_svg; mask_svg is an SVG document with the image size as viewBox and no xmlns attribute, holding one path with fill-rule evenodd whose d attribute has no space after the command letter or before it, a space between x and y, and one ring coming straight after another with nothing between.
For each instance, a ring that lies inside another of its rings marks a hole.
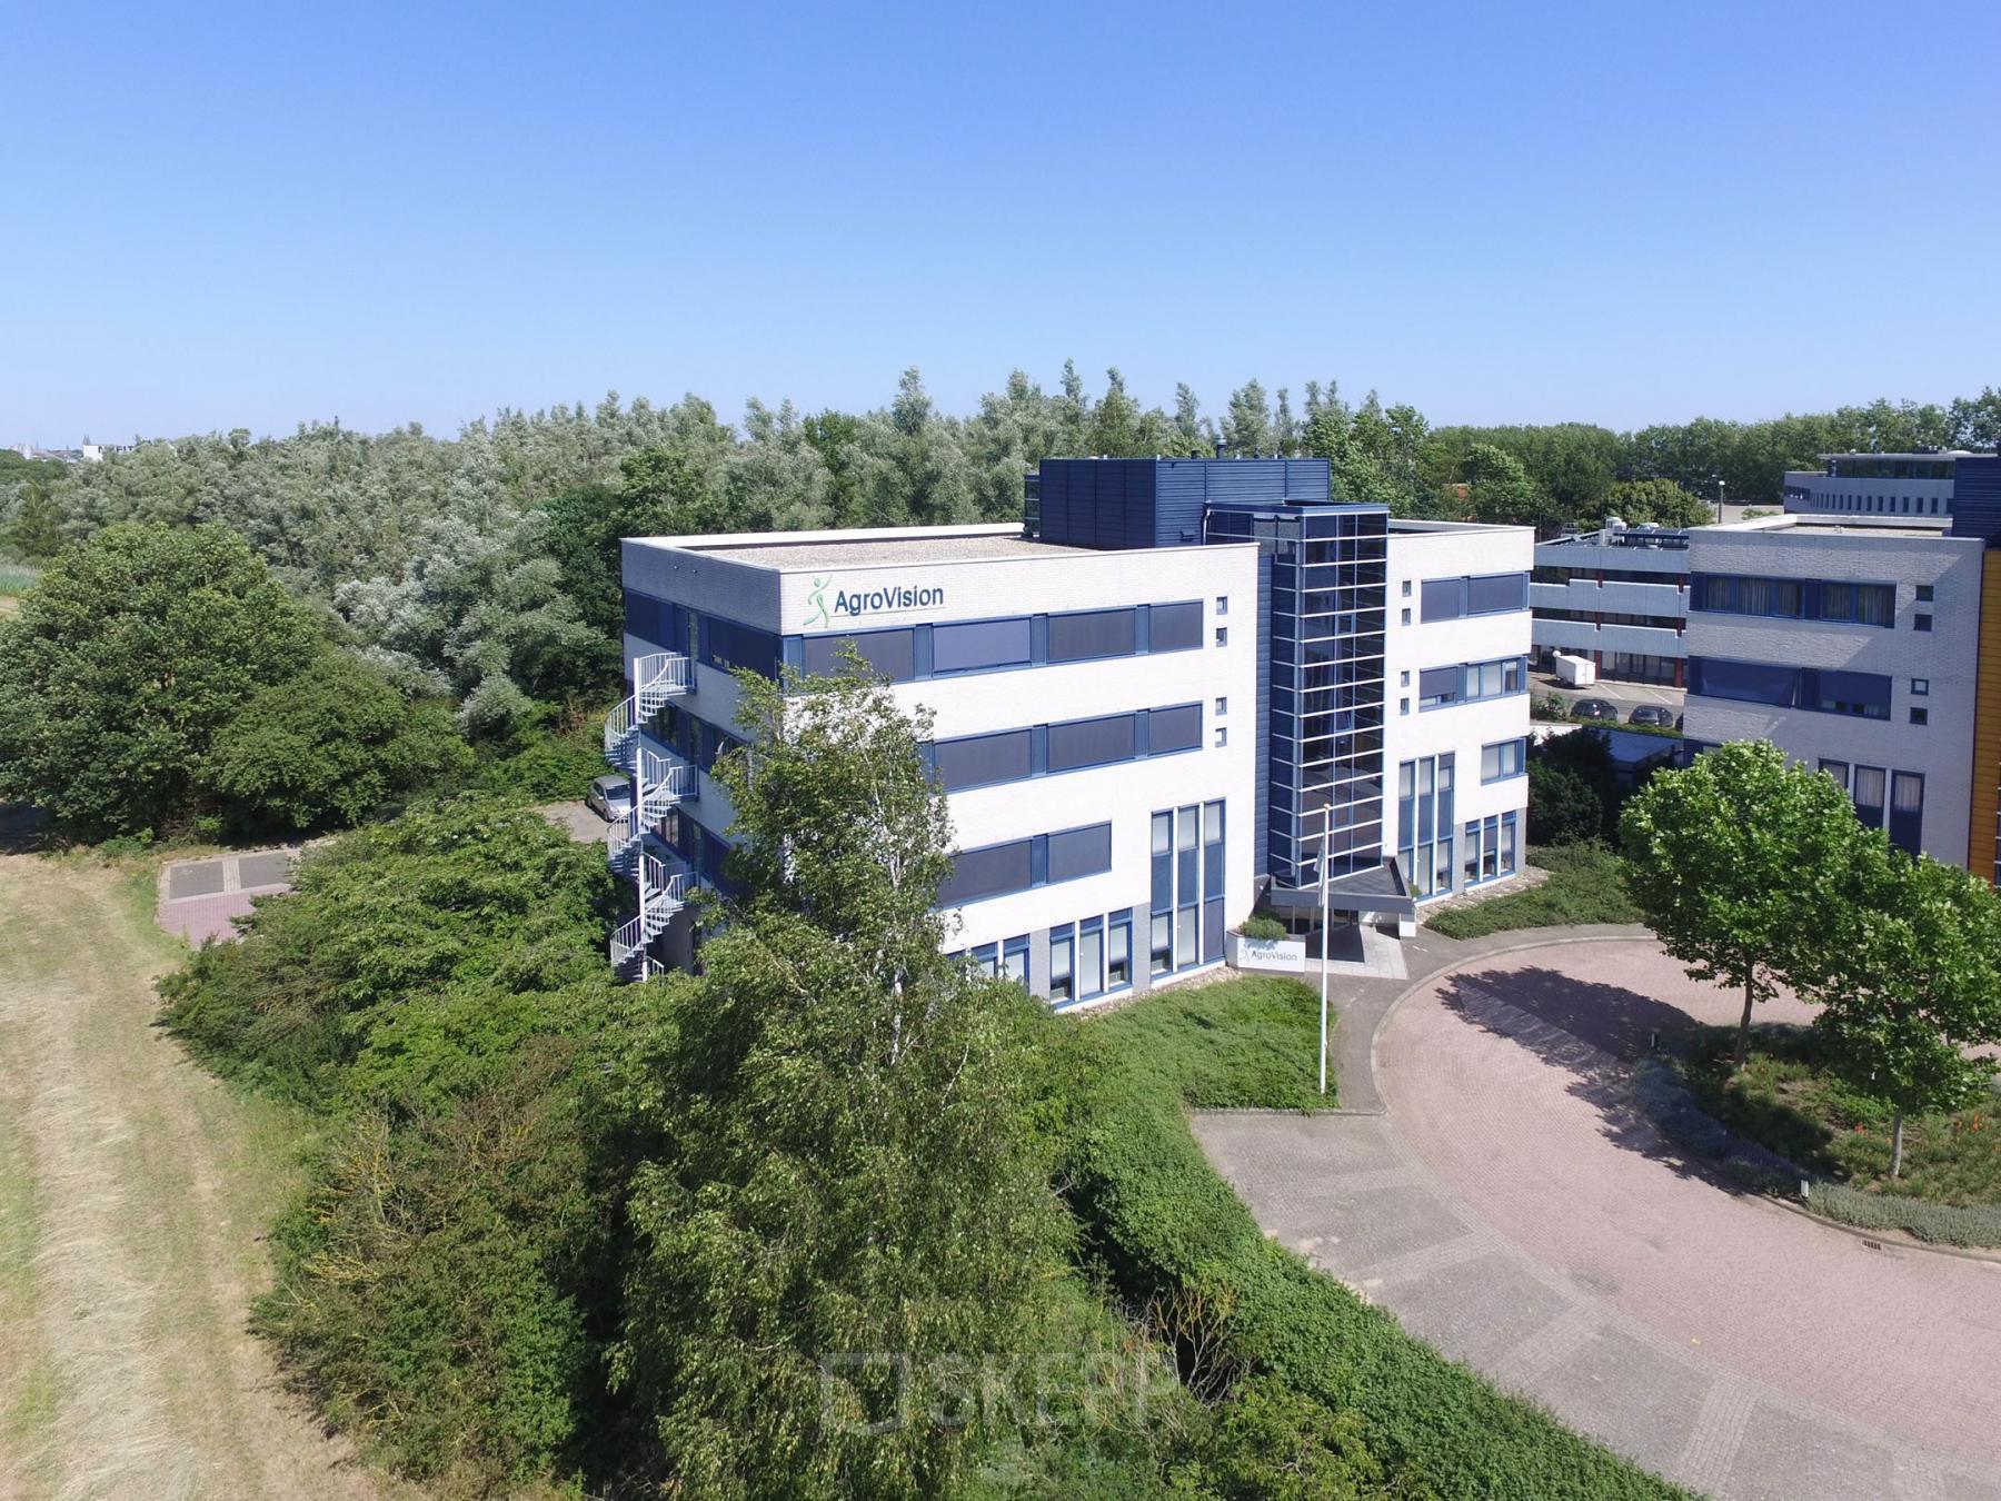
<instances>
[{"instance_id":1,"label":"clear blue cloudless sky above the treetops","mask_svg":"<svg viewBox=\"0 0 2001 1501\"><path fill-rule=\"evenodd\" d=\"M1967 4L14 6L0 442L1011 368L1205 410L2001 382Z\"/></svg>"}]
</instances>

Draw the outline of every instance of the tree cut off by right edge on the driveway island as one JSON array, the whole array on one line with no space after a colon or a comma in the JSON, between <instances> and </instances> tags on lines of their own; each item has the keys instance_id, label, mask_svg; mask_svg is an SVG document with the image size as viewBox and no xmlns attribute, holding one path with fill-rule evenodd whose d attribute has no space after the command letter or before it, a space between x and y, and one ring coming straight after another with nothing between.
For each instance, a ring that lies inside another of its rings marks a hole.
<instances>
[{"instance_id":1,"label":"tree cut off by right edge on the driveway island","mask_svg":"<svg viewBox=\"0 0 2001 1501\"><path fill-rule=\"evenodd\" d=\"M1905 1119L1961 1109L1995 1077L1997 1061L1969 1049L2001 1043L2001 899L1959 867L1881 841L1857 873L1849 923L1817 951L1807 989L1835 1071L1891 1107L1897 1177Z\"/></svg>"}]
</instances>

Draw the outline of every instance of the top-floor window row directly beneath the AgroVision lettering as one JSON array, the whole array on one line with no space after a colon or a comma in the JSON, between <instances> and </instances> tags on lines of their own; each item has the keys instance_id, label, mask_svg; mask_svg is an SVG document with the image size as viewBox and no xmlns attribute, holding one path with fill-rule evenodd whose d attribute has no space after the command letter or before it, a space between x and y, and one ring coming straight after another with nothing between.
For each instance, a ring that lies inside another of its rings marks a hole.
<instances>
[{"instance_id":1,"label":"top-floor window row directly beneath the AgroVision lettering","mask_svg":"<svg viewBox=\"0 0 2001 1501\"><path fill-rule=\"evenodd\" d=\"M1217 598L1217 612L1229 598ZM1219 630L1217 644L1225 644ZM806 636L798 664L814 676L840 670L840 654L856 650L890 682L1005 672L1055 662L1095 662L1111 656L1195 650L1203 644L1203 602L1137 604L1069 614L1015 614L1000 620L896 626Z\"/></svg>"}]
</instances>

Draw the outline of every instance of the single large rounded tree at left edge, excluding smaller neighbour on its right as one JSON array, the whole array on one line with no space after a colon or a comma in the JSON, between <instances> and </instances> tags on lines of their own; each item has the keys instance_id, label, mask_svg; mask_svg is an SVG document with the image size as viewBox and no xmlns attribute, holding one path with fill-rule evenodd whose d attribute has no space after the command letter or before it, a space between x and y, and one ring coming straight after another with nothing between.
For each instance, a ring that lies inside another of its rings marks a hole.
<instances>
[{"instance_id":1,"label":"single large rounded tree at left edge, excluding smaller neighbour on its right","mask_svg":"<svg viewBox=\"0 0 2001 1501\"><path fill-rule=\"evenodd\" d=\"M0 797L84 837L184 821L220 730L320 640L226 526L108 526L0 622Z\"/></svg>"}]
</instances>

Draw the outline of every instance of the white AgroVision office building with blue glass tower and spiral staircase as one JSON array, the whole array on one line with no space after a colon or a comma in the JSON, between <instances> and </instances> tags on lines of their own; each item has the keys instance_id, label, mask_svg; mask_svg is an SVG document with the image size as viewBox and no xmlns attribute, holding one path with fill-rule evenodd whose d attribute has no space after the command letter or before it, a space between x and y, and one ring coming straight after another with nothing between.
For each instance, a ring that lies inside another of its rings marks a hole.
<instances>
[{"instance_id":1,"label":"white AgroVision office building with blue glass tower and spiral staircase","mask_svg":"<svg viewBox=\"0 0 2001 1501\"><path fill-rule=\"evenodd\" d=\"M732 668L848 648L932 714L954 949L1057 1007L1223 961L1257 905L1407 919L1525 839L1531 532L1337 502L1325 460L1045 460L1021 524L624 542L624 973L726 881Z\"/></svg>"}]
</instances>

